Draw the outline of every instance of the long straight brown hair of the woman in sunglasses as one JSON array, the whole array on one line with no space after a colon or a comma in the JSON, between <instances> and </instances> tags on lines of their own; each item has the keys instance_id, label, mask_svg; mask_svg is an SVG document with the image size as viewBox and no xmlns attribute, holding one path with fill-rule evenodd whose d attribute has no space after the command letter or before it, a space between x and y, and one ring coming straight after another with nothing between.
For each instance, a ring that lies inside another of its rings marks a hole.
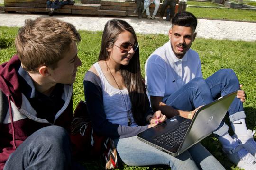
<instances>
[{"instance_id":1,"label":"long straight brown hair of the woman in sunglasses","mask_svg":"<svg viewBox=\"0 0 256 170\"><path fill-rule=\"evenodd\" d=\"M101 40L99 61L107 60L110 57L110 52L107 49L113 47L118 35L124 31L129 31L133 34L137 42L135 31L127 22L112 19L106 23ZM139 48L135 51L128 65L121 65L121 75L129 92L133 118L138 125L145 125L144 115L148 111L149 100L146 95L145 81L140 72Z\"/></svg>"}]
</instances>

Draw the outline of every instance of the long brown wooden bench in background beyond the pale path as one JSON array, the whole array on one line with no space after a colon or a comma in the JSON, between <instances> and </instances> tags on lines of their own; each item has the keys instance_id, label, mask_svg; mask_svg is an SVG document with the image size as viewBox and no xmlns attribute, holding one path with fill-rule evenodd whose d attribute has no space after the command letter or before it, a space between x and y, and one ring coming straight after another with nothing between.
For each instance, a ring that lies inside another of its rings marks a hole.
<instances>
[{"instance_id":1,"label":"long brown wooden bench in background beyond the pale path","mask_svg":"<svg viewBox=\"0 0 256 170\"><path fill-rule=\"evenodd\" d=\"M157 12L160 14L162 4ZM124 0L81 0L81 3L74 5L64 5L55 13L82 14L82 15L107 15L107 16L137 16L133 13L136 8L135 2L125 2ZM152 14L155 4L149 6ZM176 5L176 11L178 4ZM46 11L46 0L4 0L4 7L0 10L5 12L28 12L28 13L48 13ZM146 15L146 12L143 14ZM165 10L166 15L166 10Z\"/></svg>"}]
</instances>

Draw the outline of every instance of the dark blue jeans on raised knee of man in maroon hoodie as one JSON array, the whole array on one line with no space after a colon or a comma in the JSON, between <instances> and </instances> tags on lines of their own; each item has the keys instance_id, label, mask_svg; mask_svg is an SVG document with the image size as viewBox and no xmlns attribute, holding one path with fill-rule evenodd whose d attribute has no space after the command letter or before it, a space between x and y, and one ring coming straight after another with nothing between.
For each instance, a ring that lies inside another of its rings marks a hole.
<instances>
[{"instance_id":1,"label":"dark blue jeans on raised knee of man in maroon hoodie","mask_svg":"<svg viewBox=\"0 0 256 170\"><path fill-rule=\"evenodd\" d=\"M6 161L4 170L77 170L76 167L79 165L72 161L66 130L59 126L47 126L18 146Z\"/></svg>"}]
</instances>

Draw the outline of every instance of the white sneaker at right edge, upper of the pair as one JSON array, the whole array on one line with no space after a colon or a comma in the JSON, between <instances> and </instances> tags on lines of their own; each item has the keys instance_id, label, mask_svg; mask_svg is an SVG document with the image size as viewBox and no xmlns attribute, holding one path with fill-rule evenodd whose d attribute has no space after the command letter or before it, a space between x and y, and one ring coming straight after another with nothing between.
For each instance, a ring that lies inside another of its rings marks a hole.
<instances>
[{"instance_id":1,"label":"white sneaker at right edge, upper of the pair","mask_svg":"<svg viewBox=\"0 0 256 170\"><path fill-rule=\"evenodd\" d=\"M253 139L255 130L247 130L246 134L234 135L234 139L237 139L243 144L243 147L256 158L256 142Z\"/></svg>"}]
</instances>

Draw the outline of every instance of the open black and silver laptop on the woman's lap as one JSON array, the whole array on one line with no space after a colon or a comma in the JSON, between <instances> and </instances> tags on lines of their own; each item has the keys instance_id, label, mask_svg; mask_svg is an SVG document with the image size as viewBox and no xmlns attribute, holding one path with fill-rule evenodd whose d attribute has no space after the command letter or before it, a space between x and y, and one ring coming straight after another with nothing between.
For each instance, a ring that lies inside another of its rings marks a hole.
<instances>
[{"instance_id":1,"label":"open black and silver laptop on the woman's lap","mask_svg":"<svg viewBox=\"0 0 256 170\"><path fill-rule=\"evenodd\" d=\"M202 106L192 120L175 116L151 127L137 138L163 152L178 156L217 129L226 115L237 91Z\"/></svg>"}]
</instances>

